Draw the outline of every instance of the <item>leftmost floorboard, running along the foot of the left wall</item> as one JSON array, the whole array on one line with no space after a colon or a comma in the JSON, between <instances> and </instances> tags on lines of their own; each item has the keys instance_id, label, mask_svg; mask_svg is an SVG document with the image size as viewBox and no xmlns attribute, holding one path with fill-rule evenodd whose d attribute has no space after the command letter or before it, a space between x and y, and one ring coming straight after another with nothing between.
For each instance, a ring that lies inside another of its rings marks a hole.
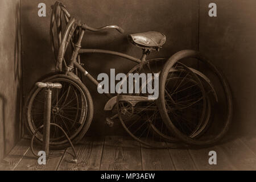
<instances>
[{"instance_id":1,"label":"leftmost floorboard, running along the foot of the left wall","mask_svg":"<svg viewBox=\"0 0 256 182\"><path fill-rule=\"evenodd\" d=\"M11 150L11 152L6 156L6 158L0 163L0 170L13 171L23 159L24 155L27 154L29 148L30 140L21 139L13 150Z\"/></svg>"}]
</instances>

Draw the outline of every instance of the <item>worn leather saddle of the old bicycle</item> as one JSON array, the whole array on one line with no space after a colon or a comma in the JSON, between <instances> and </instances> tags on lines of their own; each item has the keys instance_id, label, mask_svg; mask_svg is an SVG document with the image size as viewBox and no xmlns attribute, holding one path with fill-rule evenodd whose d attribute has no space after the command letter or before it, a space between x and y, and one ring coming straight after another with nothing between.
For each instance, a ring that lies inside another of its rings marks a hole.
<instances>
[{"instance_id":1,"label":"worn leather saddle of the old bicycle","mask_svg":"<svg viewBox=\"0 0 256 182\"><path fill-rule=\"evenodd\" d=\"M166 43L166 36L154 31L130 34L128 35L128 39L135 46L143 49L159 49Z\"/></svg>"}]
</instances>

